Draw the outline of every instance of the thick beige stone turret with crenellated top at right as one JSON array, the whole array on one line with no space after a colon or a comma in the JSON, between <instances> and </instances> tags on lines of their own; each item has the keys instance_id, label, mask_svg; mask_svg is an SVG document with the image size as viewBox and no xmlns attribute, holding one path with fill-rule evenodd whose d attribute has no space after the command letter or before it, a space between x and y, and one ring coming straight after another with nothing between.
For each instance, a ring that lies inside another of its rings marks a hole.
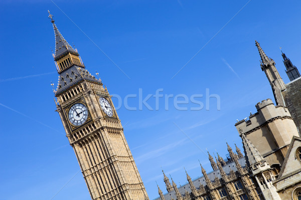
<instances>
[{"instance_id":1,"label":"thick beige stone turret with crenellated top at right","mask_svg":"<svg viewBox=\"0 0 301 200\"><path fill-rule=\"evenodd\" d=\"M281 165L291 138L298 136L296 125L288 109L275 106L269 98L258 102L255 107L257 112L248 120L235 123L239 135L246 135L270 165Z\"/></svg>"}]
</instances>

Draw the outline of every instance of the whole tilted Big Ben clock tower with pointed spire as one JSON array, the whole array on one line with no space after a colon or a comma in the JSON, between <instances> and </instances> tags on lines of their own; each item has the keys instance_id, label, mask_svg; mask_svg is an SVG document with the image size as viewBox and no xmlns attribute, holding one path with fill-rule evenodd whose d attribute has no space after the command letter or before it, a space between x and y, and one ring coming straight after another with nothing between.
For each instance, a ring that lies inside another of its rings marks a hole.
<instances>
[{"instance_id":1,"label":"whole tilted Big Ben clock tower with pointed spire","mask_svg":"<svg viewBox=\"0 0 301 200\"><path fill-rule=\"evenodd\" d=\"M79 53L55 32L55 64L59 83L57 111L94 199L148 199L106 88L91 75Z\"/></svg>"}]
</instances>

